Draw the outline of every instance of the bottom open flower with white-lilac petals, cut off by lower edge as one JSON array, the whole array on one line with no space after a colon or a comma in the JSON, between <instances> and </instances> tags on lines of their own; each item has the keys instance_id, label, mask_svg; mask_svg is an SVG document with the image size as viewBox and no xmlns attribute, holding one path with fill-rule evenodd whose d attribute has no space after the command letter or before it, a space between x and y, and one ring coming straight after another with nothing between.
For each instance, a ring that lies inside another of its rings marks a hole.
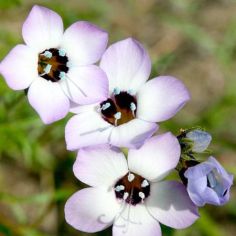
<instances>
[{"instance_id":1,"label":"bottom open flower with white-lilac petals, cut off by lower edge","mask_svg":"<svg viewBox=\"0 0 236 236\"><path fill-rule=\"evenodd\" d=\"M118 148L88 147L78 152L74 174L91 187L70 197L66 221L84 232L98 232L113 224L113 235L161 235L160 223L181 229L197 218L186 188L161 181L180 157L178 140L166 133L131 149L128 160Z\"/></svg>"}]
</instances>

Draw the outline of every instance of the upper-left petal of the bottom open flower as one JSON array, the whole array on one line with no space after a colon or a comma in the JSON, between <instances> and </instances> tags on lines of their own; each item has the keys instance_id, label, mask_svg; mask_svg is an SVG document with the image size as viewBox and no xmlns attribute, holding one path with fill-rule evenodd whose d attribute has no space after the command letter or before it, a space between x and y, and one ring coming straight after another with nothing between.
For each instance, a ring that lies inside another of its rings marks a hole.
<instances>
[{"instance_id":1,"label":"upper-left petal of the bottom open flower","mask_svg":"<svg viewBox=\"0 0 236 236\"><path fill-rule=\"evenodd\" d=\"M90 186L113 186L127 174L128 165L120 149L109 145L80 149L73 166L75 176Z\"/></svg>"}]
</instances>

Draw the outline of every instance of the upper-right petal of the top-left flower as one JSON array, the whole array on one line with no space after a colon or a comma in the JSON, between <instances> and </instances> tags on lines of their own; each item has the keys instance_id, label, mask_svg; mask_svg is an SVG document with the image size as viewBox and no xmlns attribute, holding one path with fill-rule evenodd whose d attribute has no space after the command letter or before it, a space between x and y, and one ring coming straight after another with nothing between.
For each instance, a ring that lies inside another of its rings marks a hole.
<instances>
[{"instance_id":1,"label":"upper-right petal of the top-left flower","mask_svg":"<svg viewBox=\"0 0 236 236\"><path fill-rule=\"evenodd\" d=\"M106 49L108 34L86 21L72 24L64 33L62 47L76 65L97 62Z\"/></svg>"}]
</instances>

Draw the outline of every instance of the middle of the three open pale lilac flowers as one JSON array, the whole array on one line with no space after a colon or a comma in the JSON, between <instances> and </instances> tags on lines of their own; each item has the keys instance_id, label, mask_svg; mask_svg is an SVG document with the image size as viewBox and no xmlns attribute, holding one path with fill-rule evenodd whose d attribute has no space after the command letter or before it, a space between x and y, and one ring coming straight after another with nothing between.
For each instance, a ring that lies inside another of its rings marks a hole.
<instances>
[{"instance_id":1,"label":"middle of the three open pale lilac flowers","mask_svg":"<svg viewBox=\"0 0 236 236\"><path fill-rule=\"evenodd\" d=\"M151 61L134 39L111 45L101 68L109 80L109 96L100 104L74 107L65 131L68 150L109 143L137 148L152 136L155 122L174 116L189 100L182 82L159 76L148 82Z\"/></svg>"}]
</instances>

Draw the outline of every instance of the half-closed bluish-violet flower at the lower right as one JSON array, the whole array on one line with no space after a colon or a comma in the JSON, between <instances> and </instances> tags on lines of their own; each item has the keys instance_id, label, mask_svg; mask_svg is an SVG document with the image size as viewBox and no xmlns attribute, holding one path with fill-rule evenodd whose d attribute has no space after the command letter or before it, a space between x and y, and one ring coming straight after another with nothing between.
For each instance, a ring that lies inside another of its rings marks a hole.
<instances>
[{"instance_id":1,"label":"half-closed bluish-violet flower at the lower right","mask_svg":"<svg viewBox=\"0 0 236 236\"><path fill-rule=\"evenodd\" d=\"M223 205L229 200L233 175L228 174L214 157L189 167L184 176L187 178L188 194L197 206L206 203Z\"/></svg>"}]
</instances>

